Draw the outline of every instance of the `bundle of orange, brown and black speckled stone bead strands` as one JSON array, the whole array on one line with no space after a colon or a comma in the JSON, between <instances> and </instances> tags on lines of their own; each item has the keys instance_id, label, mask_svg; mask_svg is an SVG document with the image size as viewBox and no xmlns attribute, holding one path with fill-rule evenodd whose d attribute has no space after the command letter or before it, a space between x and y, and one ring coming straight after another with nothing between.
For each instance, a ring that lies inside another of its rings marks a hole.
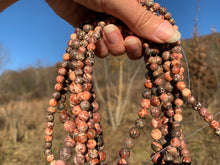
<instances>
[{"instance_id":1,"label":"bundle of orange, brown and black speckled stone bead strands","mask_svg":"<svg viewBox=\"0 0 220 165\"><path fill-rule=\"evenodd\" d=\"M153 0L139 0L139 3L161 19L168 20L175 28L175 20L166 8L160 7ZM98 17L98 18L97 18ZM103 21L97 21L103 20ZM91 17L75 29L68 42L63 62L58 70L56 84L47 109L45 136L45 155L50 165L66 165L74 152L74 163L82 165L103 164L106 158L104 148L99 104L95 101L92 72L96 42L102 35L105 25L113 23L121 27L123 37L135 35L116 18L100 14ZM94 28L95 27L95 28ZM184 142L181 128L184 102L191 104L195 111L220 136L219 123L213 115L196 101L184 83L181 41L173 44L156 44L140 38L143 43L144 61L146 63L145 89L135 126L129 130L130 137L124 141L119 151L118 165L128 164L130 150L134 139L140 136L144 120L149 113L153 117L151 125L152 162L159 164L191 164L189 150ZM69 106L68 106L69 105ZM68 135L64 147L60 150L60 159L52 154L54 114L60 114L60 122ZM162 151L162 152L161 152Z\"/></svg>"}]
</instances>

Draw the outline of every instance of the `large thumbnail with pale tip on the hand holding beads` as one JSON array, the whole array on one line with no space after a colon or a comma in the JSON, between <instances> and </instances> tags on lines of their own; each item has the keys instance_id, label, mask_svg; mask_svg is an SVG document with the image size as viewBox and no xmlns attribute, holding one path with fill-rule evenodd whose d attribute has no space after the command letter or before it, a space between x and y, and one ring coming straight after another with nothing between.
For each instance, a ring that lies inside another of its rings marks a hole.
<instances>
[{"instance_id":1,"label":"large thumbnail with pale tip on the hand holding beads","mask_svg":"<svg viewBox=\"0 0 220 165\"><path fill-rule=\"evenodd\" d=\"M181 34L168 21L164 21L155 31L154 35L167 43L173 43L181 38Z\"/></svg>"}]
</instances>

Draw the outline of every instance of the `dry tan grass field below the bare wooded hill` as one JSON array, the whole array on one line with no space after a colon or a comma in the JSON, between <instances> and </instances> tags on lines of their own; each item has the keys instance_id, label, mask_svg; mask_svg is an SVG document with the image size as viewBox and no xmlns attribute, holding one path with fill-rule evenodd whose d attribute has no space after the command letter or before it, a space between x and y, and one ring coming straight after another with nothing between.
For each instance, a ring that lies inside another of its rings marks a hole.
<instances>
[{"instance_id":1,"label":"dry tan grass field below the bare wooded hill","mask_svg":"<svg viewBox=\"0 0 220 165\"><path fill-rule=\"evenodd\" d=\"M21 100L12 101L0 108L0 164L14 165L43 165L46 164L43 154L43 137L45 129L45 111L48 99L41 100ZM212 106L215 107L215 106ZM116 131L112 131L107 122L106 112L103 110L103 130L105 138L105 152L107 153L106 162L109 165L116 164L118 159L118 150L123 146L125 135L128 136L128 129L132 126L139 105L132 104L122 122L122 125ZM210 109L212 113L217 110ZM187 108L184 112L184 132L185 136L202 127L205 122L197 116L196 121L191 115L193 110ZM218 120L220 117L218 117ZM16 121L18 129L16 132ZM62 124L55 121L54 147L53 150L58 156L58 150L62 147L63 138ZM150 158L150 118L146 121L147 127L141 131L141 136L136 140L136 146L131 151L129 164L142 165ZM17 136L17 141L15 137ZM219 142L218 138L208 127L189 138L186 143L191 151L192 164L219 165Z\"/></svg>"}]
</instances>

